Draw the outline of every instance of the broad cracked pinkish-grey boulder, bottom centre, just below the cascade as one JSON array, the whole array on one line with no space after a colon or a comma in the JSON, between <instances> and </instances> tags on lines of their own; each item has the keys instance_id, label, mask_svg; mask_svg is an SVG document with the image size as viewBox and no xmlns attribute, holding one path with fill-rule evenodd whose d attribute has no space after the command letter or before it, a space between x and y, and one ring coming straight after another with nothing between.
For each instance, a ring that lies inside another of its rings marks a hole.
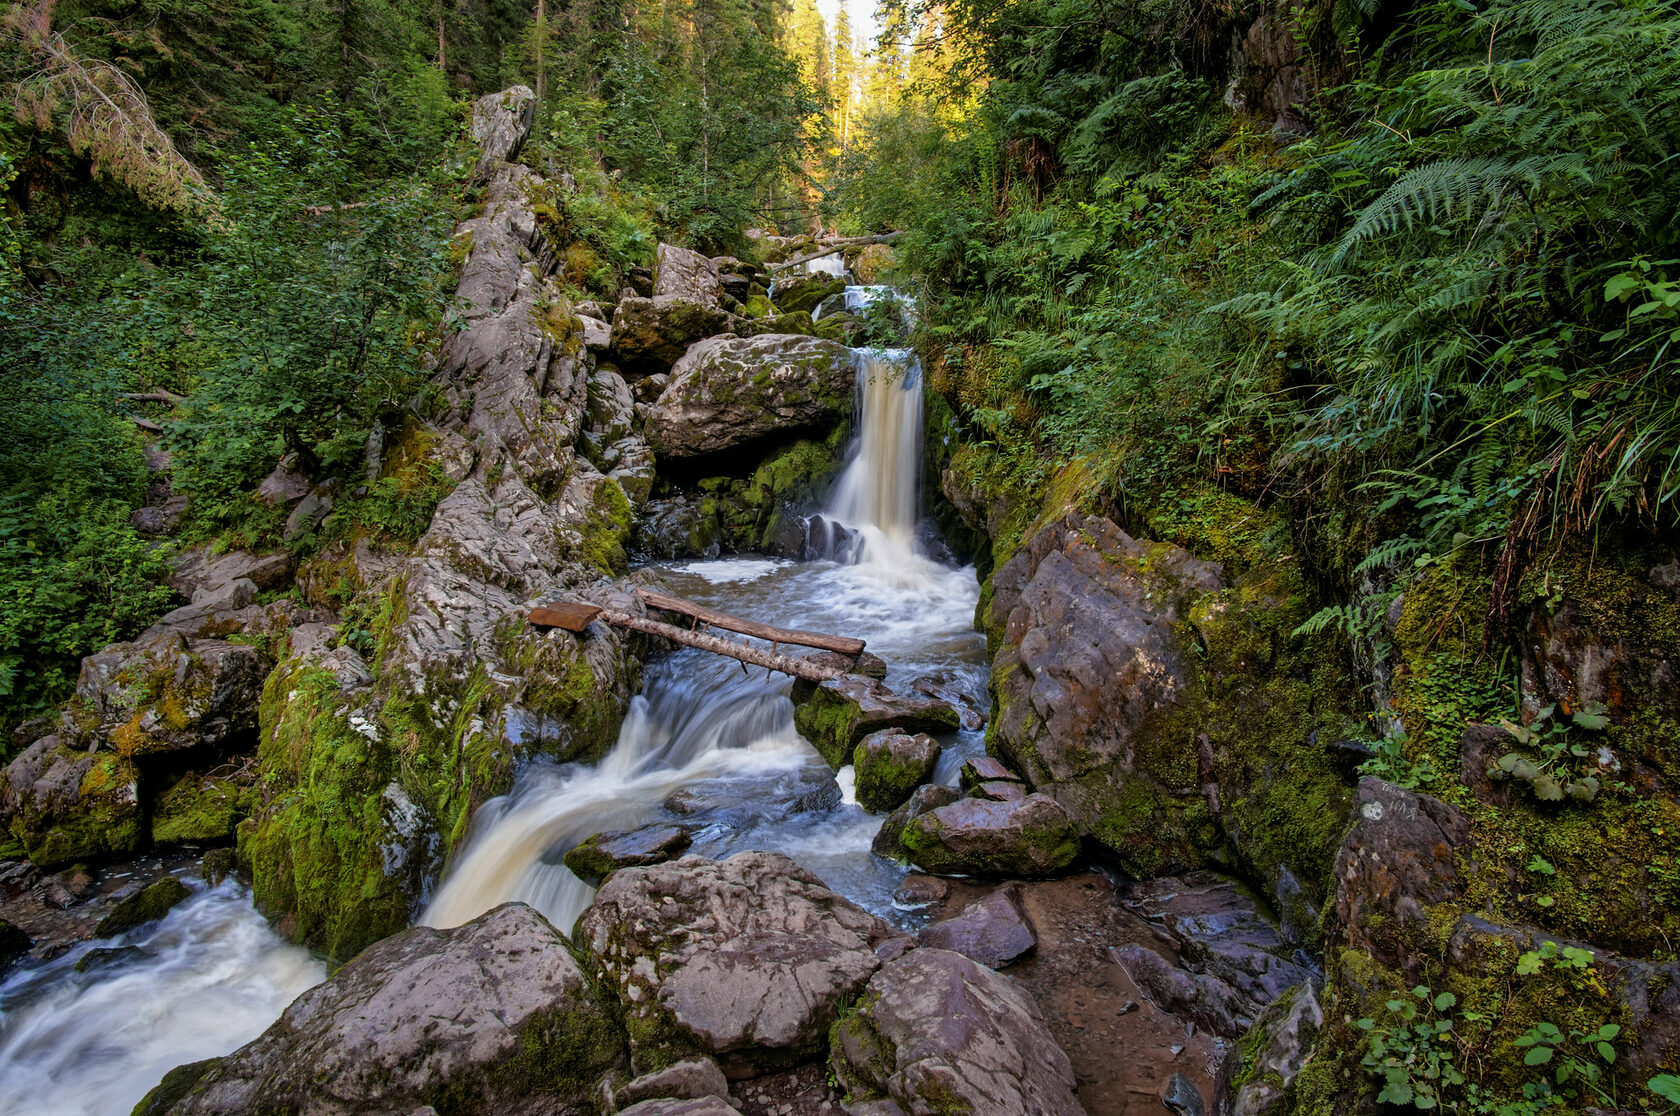
<instances>
[{"instance_id":1,"label":"broad cracked pinkish-grey boulder, bottom centre, just below the cascade","mask_svg":"<svg viewBox=\"0 0 1680 1116\"><path fill-rule=\"evenodd\" d=\"M694 1054L753 1076L822 1049L890 928L774 852L613 872L578 943L615 985L638 1072Z\"/></svg>"}]
</instances>

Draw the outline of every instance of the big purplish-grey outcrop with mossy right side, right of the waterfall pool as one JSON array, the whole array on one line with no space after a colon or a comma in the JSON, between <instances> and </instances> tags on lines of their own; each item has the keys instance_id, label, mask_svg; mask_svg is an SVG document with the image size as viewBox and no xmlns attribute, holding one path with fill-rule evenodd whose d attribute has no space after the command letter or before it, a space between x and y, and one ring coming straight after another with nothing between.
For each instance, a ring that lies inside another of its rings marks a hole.
<instances>
[{"instance_id":1,"label":"big purplish-grey outcrop with mossy right side, right of the waterfall pool","mask_svg":"<svg viewBox=\"0 0 1680 1116\"><path fill-rule=\"evenodd\" d=\"M1068 514L993 573L988 748L1127 874L1231 855L1310 936L1351 797L1312 736L1346 731L1351 684L1307 615L1285 565L1230 576Z\"/></svg>"}]
</instances>

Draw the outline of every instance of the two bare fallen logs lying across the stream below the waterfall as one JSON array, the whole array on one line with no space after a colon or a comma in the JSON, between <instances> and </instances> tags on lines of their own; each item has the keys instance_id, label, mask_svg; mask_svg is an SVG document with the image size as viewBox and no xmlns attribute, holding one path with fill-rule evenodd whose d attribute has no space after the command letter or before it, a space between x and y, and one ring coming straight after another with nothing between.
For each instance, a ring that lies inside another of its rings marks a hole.
<instances>
[{"instance_id":1,"label":"two bare fallen logs lying across the stream below the waterfall","mask_svg":"<svg viewBox=\"0 0 1680 1116\"><path fill-rule=\"evenodd\" d=\"M531 610L531 624L538 627L561 627L568 632L581 632L590 627L595 620L603 620L613 627L628 629L632 632L643 632L647 635L659 635L669 639L674 644L682 644L684 647L699 647L701 650L709 650L712 654L727 655L739 662L749 662L753 666L764 667L766 671L781 671L783 674L791 674L793 677L805 679L808 682L827 682L830 679L845 677L845 669L838 666L828 666L825 662L813 662L810 659L795 659L791 655L783 655L776 650L781 644L796 644L801 647L818 647L822 650L835 650L843 655L857 659L864 654L864 640L848 639L845 635L825 635L822 632L798 632L791 629L778 629L769 624L758 624L756 620L743 620L739 617L731 617L727 613L717 612L716 608L707 608L706 605L697 605L692 600L684 600L680 597L669 597L665 593L655 593L652 590L640 588L637 597L648 608L659 608L662 612L675 612L685 615L694 622L692 629L677 627L675 624L665 624L664 620L650 620L647 617L632 615L618 608L603 608L600 605L588 605L575 600L551 602L548 605L538 605ZM753 647L751 644L738 644L734 640L724 639L721 635L711 635L702 632L699 625L719 627L727 632L739 632L743 635L754 635L758 639L768 639L771 649Z\"/></svg>"}]
</instances>

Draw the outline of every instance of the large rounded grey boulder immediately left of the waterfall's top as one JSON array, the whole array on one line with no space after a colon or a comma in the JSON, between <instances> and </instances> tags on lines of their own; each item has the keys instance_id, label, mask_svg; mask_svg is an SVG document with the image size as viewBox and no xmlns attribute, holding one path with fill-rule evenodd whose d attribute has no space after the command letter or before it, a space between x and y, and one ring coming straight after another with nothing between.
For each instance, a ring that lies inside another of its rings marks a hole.
<instances>
[{"instance_id":1,"label":"large rounded grey boulder immediately left of the waterfall's top","mask_svg":"<svg viewBox=\"0 0 1680 1116\"><path fill-rule=\"evenodd\" d=\"M852 350L820 338L712 338L692 346L654 405L648 437L684 459L832 427L852 413Z\"/></svg>"}]
</instances>

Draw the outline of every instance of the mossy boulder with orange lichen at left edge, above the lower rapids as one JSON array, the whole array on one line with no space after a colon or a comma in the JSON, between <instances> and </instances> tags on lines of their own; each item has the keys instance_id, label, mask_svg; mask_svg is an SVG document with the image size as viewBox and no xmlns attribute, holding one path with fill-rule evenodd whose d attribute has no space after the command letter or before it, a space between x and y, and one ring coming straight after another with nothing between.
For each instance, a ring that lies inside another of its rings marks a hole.
<instances>
[{"instance_id":1,"label":"mossy boulder with orange lichen at left edge, above the lower rapids","mask_svg":"<svg viewBox=\"0 0 1680 1116\"><path fill-rule=\"evenodd\" d=\"M129 855L146 837L139 768L128 756L59 734L30 745L0 776L0 812L44 869Z\"/></svg>"}]
</instances>

